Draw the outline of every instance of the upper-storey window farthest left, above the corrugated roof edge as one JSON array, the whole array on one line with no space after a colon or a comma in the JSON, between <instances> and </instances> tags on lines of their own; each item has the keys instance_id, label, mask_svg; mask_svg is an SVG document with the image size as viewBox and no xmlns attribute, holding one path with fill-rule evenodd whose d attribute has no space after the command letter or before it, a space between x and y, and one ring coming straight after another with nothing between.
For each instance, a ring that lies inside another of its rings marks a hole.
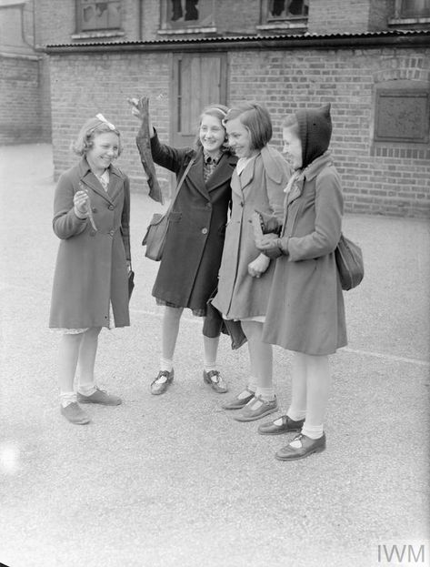
<instances>
[{"instance_id":1,"label":"upper-storey window farthest left, above the corrugated roof edge","mask_svg":"<svg viewBox=\"0 0 430 567\"><path fill-rule=\"evenodd\" d=\"M119 29L121 0L77 0L79 31Z\"/></svg>"}]
</instances>

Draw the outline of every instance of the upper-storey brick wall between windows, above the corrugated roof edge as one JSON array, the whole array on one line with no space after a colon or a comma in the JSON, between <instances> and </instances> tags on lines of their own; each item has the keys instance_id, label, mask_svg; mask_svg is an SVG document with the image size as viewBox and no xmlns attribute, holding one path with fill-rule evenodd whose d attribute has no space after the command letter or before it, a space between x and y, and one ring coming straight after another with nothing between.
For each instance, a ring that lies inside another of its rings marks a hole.
<instances>
[{"instance_id":1,"label":"upper-storey brick wall between windows, above the corrugated roof edge","mask_svg":"<svg viewBox=\"0 0 430 567\"><path fill-rule=\"evenodd\" d=\"M308 31L313 34L365 32L385 29L387 14L394 0L310 0ZM153 41L159 35L161 2L158 0L123 0L122 36L96 38L88 41ZM75 0L35 0L36 43L73 43L76 32ZM261 23L261 0L216 0L215 25L219 35L249 35L256 33ZM186 34L185 37L189 37Z\"/></svg>"}]
</instances>

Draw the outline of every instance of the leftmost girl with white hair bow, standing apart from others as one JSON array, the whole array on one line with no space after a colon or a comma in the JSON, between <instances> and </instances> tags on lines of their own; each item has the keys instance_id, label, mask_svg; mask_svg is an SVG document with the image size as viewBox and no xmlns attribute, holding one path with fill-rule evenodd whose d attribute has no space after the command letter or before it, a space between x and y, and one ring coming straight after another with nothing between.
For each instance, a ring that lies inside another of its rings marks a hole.
<instances>
[{"instance_id":1,"label":"leftmost girl with white hair bow, standing apart from others","mask_svg":"<svg viewBox=\"0 0 430 567\"><path fill-rule=\"evenodd\" d=\"M62 331L61 413L72 423L85 424L89 418L78 401L121 403L97 388L94 367L102 327L130 324L130 190L128 178L112 165L121 152L119 132L104 116L85 123L74 149L82 159L60 177L55 189L53 228L61 242L49 326Z\"/></svg>"}]
</instances>

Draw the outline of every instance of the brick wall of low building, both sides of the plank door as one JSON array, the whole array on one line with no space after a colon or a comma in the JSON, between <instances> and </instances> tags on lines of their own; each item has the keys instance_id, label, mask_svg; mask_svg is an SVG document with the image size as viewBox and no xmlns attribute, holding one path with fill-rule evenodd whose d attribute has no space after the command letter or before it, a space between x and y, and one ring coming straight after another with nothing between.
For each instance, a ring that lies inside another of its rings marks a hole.
<instances>
[{"instance_id":1,"label":"brick wall of low building, both sides of the plank door","mask_svg":"<svg viewBox=\"0 0 430 567\"><path fill-rule=\"evenodd\" d=\"M51 57L55 175L75 163L68 151L88 116L97 112L121 128L125 153L118 165L145 187L135 150L136 121L127 96L169 92L170 55L115 53ZM378 81L395 77L430 82L430 50L237 50L229 55L229 104L254 99L265 103L281 147L280 124L299 107L332 103L332 149L345 188L348 211L430 216L430 162L372 153L373 96ZM153 102L160 136L168 141L169 104ZM165 182L165 170L159 170ZM147 190L147 189L145 189Z\"/></svg>"}]
</instances>

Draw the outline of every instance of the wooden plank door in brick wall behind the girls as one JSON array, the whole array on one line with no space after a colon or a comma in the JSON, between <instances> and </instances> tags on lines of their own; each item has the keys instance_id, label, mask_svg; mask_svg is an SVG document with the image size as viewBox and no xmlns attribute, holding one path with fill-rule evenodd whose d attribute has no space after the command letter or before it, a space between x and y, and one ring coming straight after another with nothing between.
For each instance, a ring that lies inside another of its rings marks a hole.
<instances>
[{"instance_id":1,"label":"wooden plank door in brick wall behind the girls","mask_svg":"<svg viewBox=\"0 0 430 567\"><path fill-rule=\"evenodd\" d=\"M175 54L172 74L171 133L175 147L193 146L198 118L227 98L226 54Z\"/></svg>"}]
</instances>

